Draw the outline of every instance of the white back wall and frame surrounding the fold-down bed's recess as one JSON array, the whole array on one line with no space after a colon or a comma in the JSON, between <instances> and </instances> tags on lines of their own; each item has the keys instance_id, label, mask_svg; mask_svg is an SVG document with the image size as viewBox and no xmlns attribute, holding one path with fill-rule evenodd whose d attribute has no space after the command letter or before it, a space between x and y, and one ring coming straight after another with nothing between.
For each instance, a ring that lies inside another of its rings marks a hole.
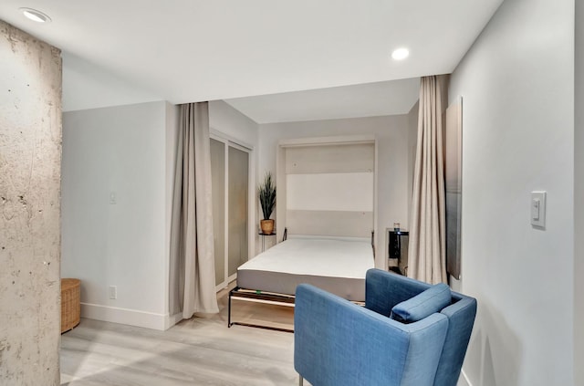
<instances>
[{"instance_id":1,"label":"white back wall and frame surrounding the fold-down bed's recess","mask_svg":"<svg viewBox=\"0 0 584 386\"><path fill-rule=\"evenodd\" d=\"M276 148L281 140L309 137L375 134L378 140L378 235L376 266L385 266L385 228L408 227L408 115L311 120L259 126L258 169L276 176ZM277 184L277 181L276 181ZM276 203L277 204L277 203ZM276 219L276 226L277 219ZM274 240L269 240L273 243ZM267 242L267 240L266 240Z\"/></svg>"}]
</instances>

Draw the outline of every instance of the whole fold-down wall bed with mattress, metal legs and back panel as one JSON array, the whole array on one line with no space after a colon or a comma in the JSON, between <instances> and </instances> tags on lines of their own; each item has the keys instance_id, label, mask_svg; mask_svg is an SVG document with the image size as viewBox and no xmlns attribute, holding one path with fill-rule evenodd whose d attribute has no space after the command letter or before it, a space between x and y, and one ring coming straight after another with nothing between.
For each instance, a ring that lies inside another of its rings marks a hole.
<instances>
[{"instance_id":1,"label":"whole fold-down wall bed with mattress, metal legs and back panel","mask_svg":"<svg viewBox=\"0 0 584 386\"><path fill-rule=\"evenodd\" d=\"M293 306L300 283L365 299L365 273L374 266L376 148L373 136L280 141L276 218L285 241L237 269L229 327L250 326L232 323L232 297Z\"/></svg>"}]
</instances>

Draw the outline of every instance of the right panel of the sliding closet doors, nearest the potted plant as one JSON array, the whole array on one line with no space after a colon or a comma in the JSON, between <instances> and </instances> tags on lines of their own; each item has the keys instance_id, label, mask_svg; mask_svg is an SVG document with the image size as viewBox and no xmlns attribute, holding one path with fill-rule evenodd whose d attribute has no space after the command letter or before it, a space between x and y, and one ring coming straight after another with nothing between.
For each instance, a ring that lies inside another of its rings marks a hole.
<instances>
[{"instance_id":1,"label":"right panel of the sliding closet doors, nearest the potted plant","mask_svg":"<svg viewBox=\"0 0 584 386\"><path fill-rule=\"evenodd\" d=\"M229 247L228 276L247 261L247 192L249 191L249 154L229 146Z\"/></svg>"}]
</instances>

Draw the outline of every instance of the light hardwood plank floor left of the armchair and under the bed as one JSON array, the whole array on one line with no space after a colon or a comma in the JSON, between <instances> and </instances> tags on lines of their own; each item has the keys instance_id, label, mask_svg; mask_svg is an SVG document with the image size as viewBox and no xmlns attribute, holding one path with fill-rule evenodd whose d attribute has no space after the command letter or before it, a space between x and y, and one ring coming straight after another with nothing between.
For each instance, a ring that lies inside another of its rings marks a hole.
<instances>
[{"instance_id":1,"label":"light hardwood plank floor left of the armchair and under the bed","mask_svg":"<svg viewBox=\"0 0 584 386\"><path fill-rule=\"evenodd\" d=\"M220 314L167 331L81 319L61 338L61 385L297 385L293 334L228 329L226 297L219 295ZM291 327L293 308L239 300L233 318Z\"/></svg>"}]
</instances>

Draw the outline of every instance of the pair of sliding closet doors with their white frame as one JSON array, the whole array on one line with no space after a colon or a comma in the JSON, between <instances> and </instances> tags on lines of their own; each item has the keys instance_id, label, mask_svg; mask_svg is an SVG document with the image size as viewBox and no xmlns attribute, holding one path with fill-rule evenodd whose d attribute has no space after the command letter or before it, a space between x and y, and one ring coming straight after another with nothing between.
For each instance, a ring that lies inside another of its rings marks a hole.
<instances>
[{"instance_id":1,"label":"pair of sliding closet doors with their white frame","mask_svg":"<svg viewBox=\"0 0 584 386\"><path fill-rule=\"evenodd\" d=\"M249 151L222 138L211 139L215 286L226 287L247 261Z\"/></svg>"}]
</instances>

